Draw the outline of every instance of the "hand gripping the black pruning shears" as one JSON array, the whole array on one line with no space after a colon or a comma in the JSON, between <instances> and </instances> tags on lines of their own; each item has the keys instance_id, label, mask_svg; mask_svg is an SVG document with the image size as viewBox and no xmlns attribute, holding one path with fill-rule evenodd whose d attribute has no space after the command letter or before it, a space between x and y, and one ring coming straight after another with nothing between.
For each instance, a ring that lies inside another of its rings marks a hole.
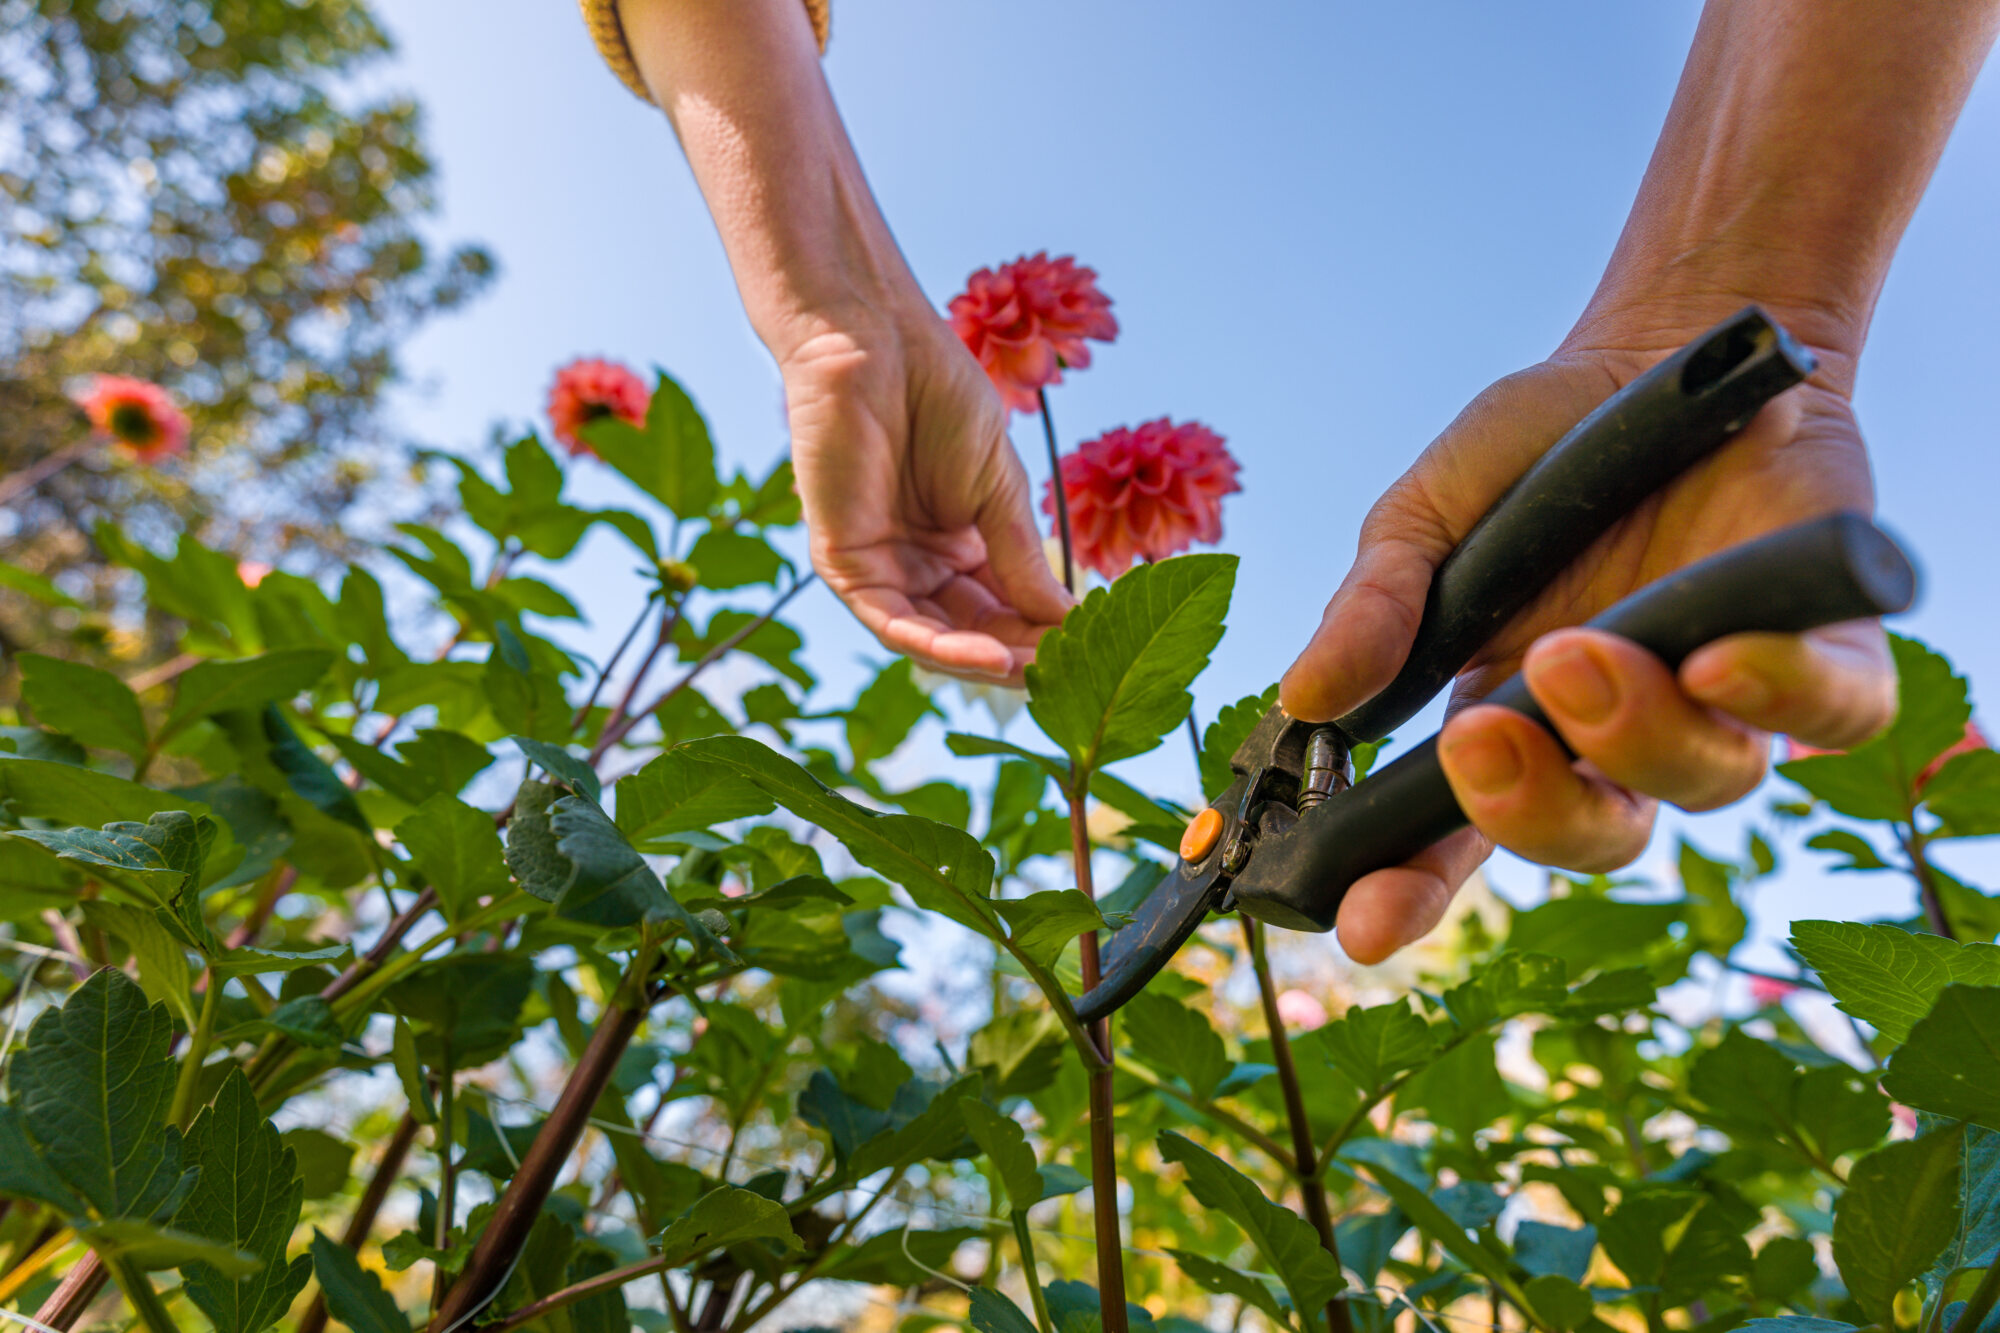
<instances>
[{"instance_id":1,"label":"hand gripping the black pruning shears","mask_svg":"<svg viewBox=\"0 0 2000 1333\"><path fill-rule=\"evenodd\" d=\"M1694 332L1566 346L1480 394L1370 512L1352 570L1286 673L1286 711L1326 721L1382 689L1458 538L1570 424ZM1854 412L1816 376L1612 528L1460 677L1438 753L1472 829L1358 881L1340 907L1346 953L1376 963L1428 933L1494 843L1612 871L1644 851L1658 801L1710 811L1750 793L1768 733L1844 749L1886 727L1896 677L1874 620L1722 638L1678 673L1630 640L1564 628L1710 552L1870 506ZM1516 671L1578 761L1522 715L1476 703Z\"/></svg>"}]
</instances>

